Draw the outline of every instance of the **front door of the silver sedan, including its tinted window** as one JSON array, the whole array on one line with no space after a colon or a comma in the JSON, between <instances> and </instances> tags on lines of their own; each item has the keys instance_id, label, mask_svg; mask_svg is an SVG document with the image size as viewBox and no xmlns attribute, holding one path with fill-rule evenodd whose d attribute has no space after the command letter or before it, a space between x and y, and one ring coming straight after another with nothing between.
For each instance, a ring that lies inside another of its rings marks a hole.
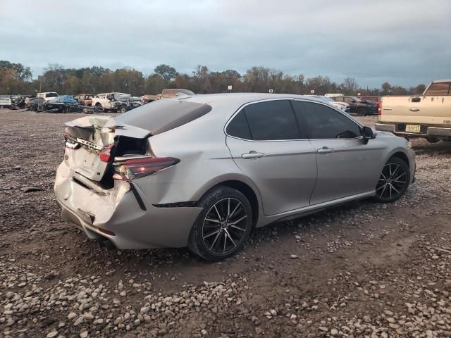
<instances>
[{"instance_id":1,"label":"front door of the silver sedan, including its tinted window","mask_svg":"<svg viewBox=\"0 0 451 338\"><path fill-rule=\"evenodd\" d=\"M383 142L362 142L362 127L348 115L312 101L293 101L299 121L308 126L316 151L318 178L310 204L371 192L380 175Z\"/></svg>"}]
</instances>

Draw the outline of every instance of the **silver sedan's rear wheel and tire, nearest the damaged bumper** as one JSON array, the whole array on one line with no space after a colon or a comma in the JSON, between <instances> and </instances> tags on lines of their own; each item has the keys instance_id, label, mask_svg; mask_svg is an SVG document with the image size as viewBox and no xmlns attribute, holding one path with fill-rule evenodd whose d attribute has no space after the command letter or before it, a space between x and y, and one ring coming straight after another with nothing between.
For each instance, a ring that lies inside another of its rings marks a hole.
<instances>
[{"instance_id":1,"label":"silver sedan's rear wheel and tire, nearest the damaged bumper","mask_svg":"<svg viewBox=\"0 0 451 338\"><path fill-rule=\"evenodd\" d=\"M199 201L204 209L192 226L188 248L208 261L233 256L249 237L252 208L246 196L219 186Z\"/></svg>"}]
</instances>

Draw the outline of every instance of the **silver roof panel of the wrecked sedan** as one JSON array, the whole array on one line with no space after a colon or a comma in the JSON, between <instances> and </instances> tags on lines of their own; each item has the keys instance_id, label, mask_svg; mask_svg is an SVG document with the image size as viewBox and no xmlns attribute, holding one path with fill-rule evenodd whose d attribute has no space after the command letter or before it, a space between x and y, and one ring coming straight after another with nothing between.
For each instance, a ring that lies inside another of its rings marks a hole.
<instances>
[{"instance_id":1,"label":"silver roof panel of the wrecked sedan","mask_svg":"<svg viewBox=\"0 0 451 338\"><path fill-rule=\"evenodd\" d=\"M306 99L323 103L322 99L314 96L297 94L268 94L268 93L223 93L223 94L198 94L192 96L180 97L180 100L197 102L199 104L215 104L221 102L230 104L247 104L252 101L270 100L270 99ZM178 99L173 99L178 100Z\"/></svg>"}]
</instances>

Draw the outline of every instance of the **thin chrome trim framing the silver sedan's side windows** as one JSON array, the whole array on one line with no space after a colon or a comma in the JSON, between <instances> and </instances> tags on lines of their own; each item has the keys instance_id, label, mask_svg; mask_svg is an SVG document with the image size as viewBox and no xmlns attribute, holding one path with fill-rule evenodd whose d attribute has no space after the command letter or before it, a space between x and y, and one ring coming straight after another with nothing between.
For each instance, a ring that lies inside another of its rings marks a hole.
<instances>
[{"instance_id":1,"label":"thin chrome trim framing the silver sedan's side windows","mask_svg":"<svg viewBox=\"0 0 451 338\"><path fill-rule=\"evenodd\" d=\"M229 123L235 118L236 115L238 115L244 108L246 108L246 106L249 106L251 104L259 104L261 102L267 102L267 101L281 101L281 100L285 100L285 101L305 101L305 102L310 102L310 103L314 103L314 104L321 104L323 106L326 106L328 108L332 108L335 111L338 111L338 113L340 113L341 115L345 116L345 118L349 118L353 123L357 124L360 129L363 128L363 125L359 123L359 121L354 120L354 118L352 118L352 116L347 115L346 113L343 113L342 111L340 111L340 109L335 108L332 105L328 105L326 103L320 102L320 101L313 101L313 100L309 100L309 99L297 99L294 97L286 97L286 98L274 98L274 99L263 99L263 100L257 100L257 101L251 101L251 102L247 102L247 104L243 104L242 106L240 106L240 108L237 109L237 111L235 111L235 113L232 114L232 116L230 116L230 118L227 120L226 125L224 125L224 134L226 134L226 137L233 137L234 139L241 139L242 141L247 141L247 142L288 142L288 141L310 141L310 140L344 140L344 139L242 139L241 137L236 137L233 135L229 135L227 133L227 127L229 125ZM294 112L293 112L294 113ZM352 138L347 138L347 139L363 139L363 136L359 136L359 137L352 137ZM345 139L346 140L346 139Z\"/></svg>"}]
</instances>

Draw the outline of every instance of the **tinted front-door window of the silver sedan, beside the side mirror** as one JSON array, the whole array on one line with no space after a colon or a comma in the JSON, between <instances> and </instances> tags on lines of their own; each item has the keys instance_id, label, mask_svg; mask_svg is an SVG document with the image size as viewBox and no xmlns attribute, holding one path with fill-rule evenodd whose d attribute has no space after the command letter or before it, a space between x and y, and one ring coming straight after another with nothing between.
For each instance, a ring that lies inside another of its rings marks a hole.
<instances>
[{"instance_id":1,"label":"tinted front-door window of the silver sedan, beside the side mirror","mask_svg":"<svg viewBox=\"0 0 451 338\"><path fill-rule=\"evenodd\" d=\"M298 120L307 121L311 139L352 139L362 135L359 125L328 106L306 101L293 101L293 106Z\"/></svg>"}]
</instances>

